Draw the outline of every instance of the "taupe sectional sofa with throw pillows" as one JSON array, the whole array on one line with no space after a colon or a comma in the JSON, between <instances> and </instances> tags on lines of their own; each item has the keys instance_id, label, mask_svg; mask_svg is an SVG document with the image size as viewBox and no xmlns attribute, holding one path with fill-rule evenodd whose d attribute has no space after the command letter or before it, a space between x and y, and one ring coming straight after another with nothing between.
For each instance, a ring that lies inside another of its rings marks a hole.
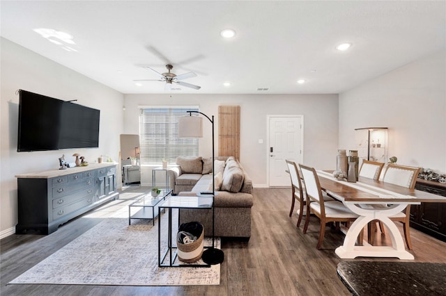
<instances>
[{"instance_id":1,"label":"taupe sectional sofa with throw pillows","mask_svg":"<svg viewBox=\"0 0 446 296\"><path fill-rule=\"evenodd\" d=\"M212 158L183 157L169 169L169 188L179 196L197 196L212 191ZM251 236L252 181L236 159L215 158L215 236L243 238ZM212 210L181 209L180 223L198 221L205 236L212 235Z\"/></svg>"}]
</instances>

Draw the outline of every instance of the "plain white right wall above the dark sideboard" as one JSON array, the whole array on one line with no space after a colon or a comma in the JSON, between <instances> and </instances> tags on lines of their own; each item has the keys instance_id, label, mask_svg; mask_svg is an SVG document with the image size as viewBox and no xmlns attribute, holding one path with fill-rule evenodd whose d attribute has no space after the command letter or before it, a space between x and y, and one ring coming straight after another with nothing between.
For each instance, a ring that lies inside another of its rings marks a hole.
<instances>
[{"instance_id":1,"label":"plain white right wall above the dark sideboard","mask_svg":"<svg viewBox=\"0 0 446 296\"><path fill-rule=\"evenodd\" d=\"M389 156L401 165L446 172L446 51L339 94L339 147L355 128L387 126Z\"/></svg>"}]
</instances>

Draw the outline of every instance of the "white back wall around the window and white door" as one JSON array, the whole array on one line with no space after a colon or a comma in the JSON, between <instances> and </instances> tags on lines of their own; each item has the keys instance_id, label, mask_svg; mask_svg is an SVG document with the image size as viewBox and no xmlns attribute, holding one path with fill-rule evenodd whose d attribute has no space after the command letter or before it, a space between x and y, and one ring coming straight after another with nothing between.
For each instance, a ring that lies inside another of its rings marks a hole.
<instances>
[{"instance_id":1,"label":"white back wall around the window and white door","mask_svg":"<svg viewBox=\"0 0 446 296\"><path fill-rule=\"evenodd\" d=\"M267 185L267 115L304 115L304 162L321 169L336 166L337 94L125 94L124 132L138 133L138 106L199 106L215 116L218 155L218 106L240 106L240 163L254 186ZM201 156L212 155L211 124L203 123ZM263 139L263 144L259 144ZM141 170L141 182L151 183L151 171Z\"/></svg>"}]
</instances>

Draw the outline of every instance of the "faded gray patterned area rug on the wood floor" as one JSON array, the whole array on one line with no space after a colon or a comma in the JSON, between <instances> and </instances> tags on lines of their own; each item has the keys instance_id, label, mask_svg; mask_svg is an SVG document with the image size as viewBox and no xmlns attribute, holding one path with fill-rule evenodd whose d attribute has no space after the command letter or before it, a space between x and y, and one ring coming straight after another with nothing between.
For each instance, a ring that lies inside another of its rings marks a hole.
<instances>
[{"instance_id":1,"label":"faded gray patterned area rug on the wood floor","mask_svg":"<svg viewBox=\"0 0 446 296\"><path fill-rule=\"evenodd\" d=\"M162 215L162 229L167 226ZM24 272L10 283L68 285L219 285L220 265L210 268L158 268L158 227L139 220L109 218ZM162 245L167 246L167 229ZM176 232L174 232L176 233ZM206 238L205 245L212 245ZM220 239L216 240L220 248ZM178 261L176 261L178 263ZM197 263L203 264L200 260Z\"/></svg>"}]
</instances>

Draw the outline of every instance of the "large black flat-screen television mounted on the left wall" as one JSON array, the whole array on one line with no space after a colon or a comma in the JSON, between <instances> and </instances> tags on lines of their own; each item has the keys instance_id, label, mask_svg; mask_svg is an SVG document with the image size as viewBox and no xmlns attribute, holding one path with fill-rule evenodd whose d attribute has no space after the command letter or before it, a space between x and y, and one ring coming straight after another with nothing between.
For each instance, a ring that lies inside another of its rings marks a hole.
<instances>
[{"instance_id":1,"label":"large black flat-screen television mounted on the left wall","mask_svg":"<svg viewBox=\"0 0 446 296\"><path fill-rule=\"evenodd\" d=\"M20 90L17 151L99 147L100 110Z\"/></svg>"}]
</instances>

